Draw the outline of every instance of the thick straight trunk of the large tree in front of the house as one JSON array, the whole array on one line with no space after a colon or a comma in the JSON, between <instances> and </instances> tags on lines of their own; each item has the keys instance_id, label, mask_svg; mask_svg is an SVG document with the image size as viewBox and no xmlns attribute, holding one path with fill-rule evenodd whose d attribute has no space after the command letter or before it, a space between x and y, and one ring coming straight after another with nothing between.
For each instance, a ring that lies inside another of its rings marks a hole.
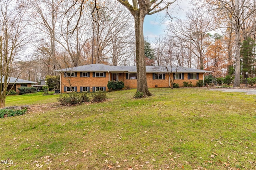
<instances>
[{"instance_id":1,"label":"thick straight trunk of the large tree in front of the house","mask_svg":"<svg viewBox=\"0 0 256 170\"><path fill-rule=\"evenodd\" d=\"M143 10L137 10L134 15L135 41L136 41L136 67L137 67L137 92L143 92L144 97L152 96L148 90L146 79L146 63L144 54L143 22L145 14Z\"/></svg>"}]
</instances>

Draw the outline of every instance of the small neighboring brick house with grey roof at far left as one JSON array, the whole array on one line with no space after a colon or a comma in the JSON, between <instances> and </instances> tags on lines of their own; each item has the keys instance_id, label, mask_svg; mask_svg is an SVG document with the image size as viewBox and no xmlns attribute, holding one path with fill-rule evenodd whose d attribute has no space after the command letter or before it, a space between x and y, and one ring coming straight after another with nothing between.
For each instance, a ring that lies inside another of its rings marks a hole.
<instances>
[{"instance_id":1,"label":"small neighboring brick house with grey roof at far left","mask_svg":"<svg viewBox=\"0 0 256 170\"><path fill-rule=\"evenodd\" d=\"M4 79L4 77L3 77L3 79ZM20 88L20 87L31 87L32 84L36 83L36 82L23 80L23 79L20 79L20 78L14 78L14 77L10 77L10 79L8 81L9 81L9 86L7 87L7 91L12 89L17 93L19 93L18 88Z\"/></svg>"}]
</instances>

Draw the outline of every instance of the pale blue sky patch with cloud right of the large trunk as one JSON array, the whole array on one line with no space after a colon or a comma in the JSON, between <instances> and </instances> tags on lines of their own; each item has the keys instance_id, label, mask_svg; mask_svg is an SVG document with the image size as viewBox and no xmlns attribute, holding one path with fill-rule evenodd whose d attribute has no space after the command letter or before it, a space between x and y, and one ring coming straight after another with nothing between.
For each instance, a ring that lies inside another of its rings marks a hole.
<instances>
[{"instance_id":1,"label":"pale blue sky patch with cloud right of the large trunk","mask_svg":"<svg viewBox=\"0 0 256 170\"><path fill-rule=\"evenodd\" d=\"M185 18L186 12L188 11L188 5L190 0L178 0L178 8L172 12L173 17ZM172 4L174 6L174 4ZM147 15L144 20L144 37L147 41L152 42L155 37L163 36L166 34L166 24L168 21L161 21L164 16L164 12L160 14ZM173 20L174 21L174 20Z\"/></svg>"}]
</instances>

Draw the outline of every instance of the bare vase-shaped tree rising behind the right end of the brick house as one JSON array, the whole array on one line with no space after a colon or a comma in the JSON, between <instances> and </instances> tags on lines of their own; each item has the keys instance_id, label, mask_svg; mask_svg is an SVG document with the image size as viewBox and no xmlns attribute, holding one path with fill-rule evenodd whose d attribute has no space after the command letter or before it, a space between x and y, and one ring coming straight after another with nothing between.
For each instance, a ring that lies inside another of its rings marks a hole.
<instances>
[{"instance_id":1,"label":"bare vase-shaped tree rising behind the right end of the brick house","mask_svg":"<svg viewBox=\"0 0 256 170\"><path fill-rule=\"evenodd\" d=\"M197 57L198 68L204 69L205 44L207 33L215 29L213 13L206 10L194 10L187 13L186 21L178 20L171 32L180 41L187 42L186 47Z\"/></svg>"}]
</instances>

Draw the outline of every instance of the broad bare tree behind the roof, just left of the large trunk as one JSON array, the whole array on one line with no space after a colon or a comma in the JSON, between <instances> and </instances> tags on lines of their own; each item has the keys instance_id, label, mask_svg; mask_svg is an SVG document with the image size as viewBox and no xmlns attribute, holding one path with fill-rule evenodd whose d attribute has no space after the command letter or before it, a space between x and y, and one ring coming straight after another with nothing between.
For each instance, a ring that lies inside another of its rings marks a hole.
<instances>
[{"instance_id":1,"label":"broad bare tree behind the roof, just left of the large trunk","mask_svg":"<svg viewBox=\"0 0 256 170\"><path fill-rule=\"evenodd\" d=\"M94 6L93 6L94 5ZM134 31L130 29L132 16L121 4L114 1L95 1L86 8L88 26L92 30L92 61L116 65L128 57L133 45ZM95 6L98 6L95 8ZM122 58L122 59L121 59Z\"/></svg>"}]
</instances>

